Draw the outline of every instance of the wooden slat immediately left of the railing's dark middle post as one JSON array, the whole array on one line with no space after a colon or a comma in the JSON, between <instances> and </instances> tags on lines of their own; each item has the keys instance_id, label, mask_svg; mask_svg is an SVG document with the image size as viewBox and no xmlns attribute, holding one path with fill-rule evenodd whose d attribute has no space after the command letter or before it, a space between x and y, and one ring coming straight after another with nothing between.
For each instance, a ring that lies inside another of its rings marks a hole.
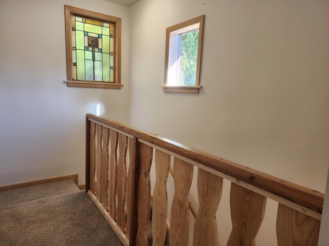
<instances>
[{"instance_id":1,"label":"wooden slat immediately left of the railing's dark middle post","mask_svg":"<svg viewBox=\"0 0 329 246\"><path fill-rule=\"evenodd\" d=\"M127 175L127 221L126 221L126 237L130 237L130 224L131 224L131 216L129 215L131 211L131 195L132 195L132 179L133 179L133 166L134 166L134 138L129 138L129 169Z\"/></svg>"}]
</instances>

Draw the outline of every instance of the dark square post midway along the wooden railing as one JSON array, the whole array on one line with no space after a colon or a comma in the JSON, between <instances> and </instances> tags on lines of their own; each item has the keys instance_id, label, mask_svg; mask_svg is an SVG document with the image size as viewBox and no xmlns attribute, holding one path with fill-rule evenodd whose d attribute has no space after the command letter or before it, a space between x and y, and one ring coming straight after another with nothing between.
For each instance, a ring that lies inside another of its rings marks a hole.
<instances>
[{"instance_id":1,"label":"dark square post midway along the wooden railing","mask_svg":"<svg viewBox=\"0 0 329 246\"><path fill-rule=\"evenodd\" d=\"M139 176L140 176L140 142L138 141L137 137L134 137L133 140L133 161L131 165L133 165L132 170L132 182L131 187L127 189L131 189L131 196L128 198L131 200L130 204L130 211L128 216L130 216L130 224L129 226L129 245L134 246L136 245L136 236L138 230L138 216L137 216L137 207L138 207L138 183L139 183Z\"/></svg>"}]
</instances>

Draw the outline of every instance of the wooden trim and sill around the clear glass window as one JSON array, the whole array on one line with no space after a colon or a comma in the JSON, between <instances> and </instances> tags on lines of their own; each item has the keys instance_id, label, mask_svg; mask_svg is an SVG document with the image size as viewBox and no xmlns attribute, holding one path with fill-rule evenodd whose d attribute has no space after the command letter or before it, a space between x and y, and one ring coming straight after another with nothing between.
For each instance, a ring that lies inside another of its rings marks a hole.
<instances>
[{"instance_id":1,"label":"wooden trim and sill around the clear glass window","mask_svg":"<svg viewBox=\"0 0 329 246\"><path fill-rule=\"evenodd\" d=\"M201 15L193 19L186 20L185 22L168 27L166 29L165 83L162 86L164 92L199 93L199 88L202 88L202 86L200 86L200 67L201 67L201 57L202 57L204 17L205 15ZM195 86L168 86L167 78L168 78L170 33L198 23L199 23L199 40L198 40Z\"/></svg>"}]
</instances>

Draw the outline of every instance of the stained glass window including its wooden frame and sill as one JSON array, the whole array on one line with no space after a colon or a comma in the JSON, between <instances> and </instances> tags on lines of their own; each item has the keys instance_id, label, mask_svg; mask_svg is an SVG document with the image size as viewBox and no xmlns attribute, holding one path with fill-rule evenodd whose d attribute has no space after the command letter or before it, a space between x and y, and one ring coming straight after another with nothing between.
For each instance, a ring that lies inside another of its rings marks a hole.
<instances>
[{"instance_id":1,"label":"stained glass window including its wooden frame and sill","mask_svg":"<svg viewBox=\"0 0 329 246\"><path fill-rule=\"evenodd\" d=\"M67 86L121 88L121 18L65 5Z\"/></svg>"}]
</instances>

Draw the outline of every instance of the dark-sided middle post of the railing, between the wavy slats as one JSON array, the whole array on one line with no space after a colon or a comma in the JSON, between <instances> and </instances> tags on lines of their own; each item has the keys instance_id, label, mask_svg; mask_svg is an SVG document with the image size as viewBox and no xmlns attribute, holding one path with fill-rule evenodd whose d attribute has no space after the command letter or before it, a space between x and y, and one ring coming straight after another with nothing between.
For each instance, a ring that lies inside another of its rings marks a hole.
<instances>
[{"instance_id":1,"label":"dark-sided middle post of the railing, between the wavy slats","mask_svg":"<svg viewBox=\"0 0 329 246\"><path fill-rule=\"evenodd\" d=\"M129 207L126 235L129 238L129 246L135 246L138 230L138 183L140 176L140 142L137 137L129 139L129 157L130 172L128 176L131 177L131 179L130 184L127 185L127 190L130 191L130 195L127 196Z\"/></svg>"}]
</instances>

